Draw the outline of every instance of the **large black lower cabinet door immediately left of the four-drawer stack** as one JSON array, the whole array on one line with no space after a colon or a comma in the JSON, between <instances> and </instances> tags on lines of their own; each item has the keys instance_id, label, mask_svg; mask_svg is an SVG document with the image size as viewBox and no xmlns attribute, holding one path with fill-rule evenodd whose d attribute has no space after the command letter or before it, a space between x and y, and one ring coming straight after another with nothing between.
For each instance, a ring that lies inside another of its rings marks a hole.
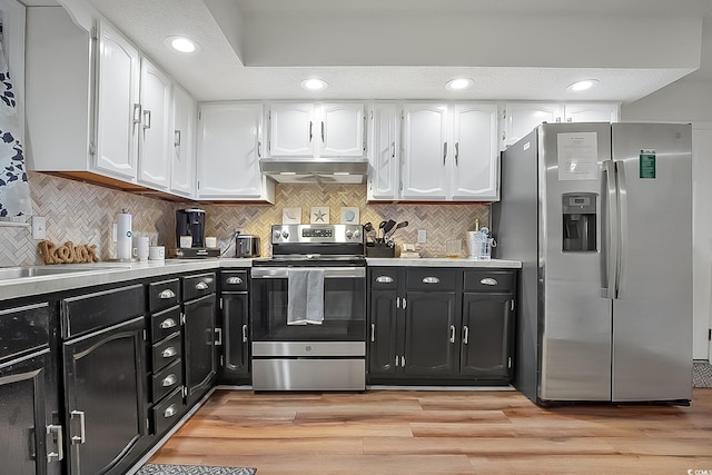
<instances>
[{"instance_id":1,"label":"large black lower cabinet door immediately left of the four-drawer stack","mask_svg":"<svg viewBox=\"0 0 712 475\"><path fill-rule=\"evenodd\" d=\"M71 475L122 474L132 462L146 434L144 328L141 316L63 345Z\"/></svg>"}]
</instances>

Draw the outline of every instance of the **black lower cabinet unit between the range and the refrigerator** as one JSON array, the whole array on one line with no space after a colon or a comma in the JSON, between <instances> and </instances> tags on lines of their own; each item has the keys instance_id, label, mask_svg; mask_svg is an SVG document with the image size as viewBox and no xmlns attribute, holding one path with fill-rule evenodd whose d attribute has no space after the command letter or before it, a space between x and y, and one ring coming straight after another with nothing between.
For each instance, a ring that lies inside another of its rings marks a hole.
<instances>
[{"instance_id":1,"label":"black lower cabinet unit between the range and the refrigerator","mask_svg":"<svg viewBox=\"0 0 712 475\"><path fill-rule=\"evenodd\" d=\"M369 384L508 384L514 269L368 270Z\"/></svg>"}]
</instances>

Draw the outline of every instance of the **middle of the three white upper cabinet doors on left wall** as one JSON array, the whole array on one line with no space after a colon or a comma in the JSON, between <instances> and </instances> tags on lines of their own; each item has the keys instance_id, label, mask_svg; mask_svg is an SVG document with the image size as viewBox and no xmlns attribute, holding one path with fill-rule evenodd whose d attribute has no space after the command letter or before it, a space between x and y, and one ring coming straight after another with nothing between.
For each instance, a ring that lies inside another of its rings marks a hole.
<instances>
[{"instance_id":1,"label":"middle of the three white upper cabinet doors on left wall","mask_svg":"<svg viewBox=\"0 0 712 475\"><path fill-rule=\"evenodd\" d=\"M172 82L146 58L141 59L140 98L138 181L166 190L174 142Z\"/></svg>"}]
</instances>

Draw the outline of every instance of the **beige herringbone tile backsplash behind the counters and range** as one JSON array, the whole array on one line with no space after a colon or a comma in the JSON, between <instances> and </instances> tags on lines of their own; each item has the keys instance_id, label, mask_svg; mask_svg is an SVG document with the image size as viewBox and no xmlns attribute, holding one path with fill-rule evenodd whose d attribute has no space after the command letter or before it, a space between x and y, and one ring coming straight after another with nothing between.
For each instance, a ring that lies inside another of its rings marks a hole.
<instances>
[{"instance_id":1,"label":"beige herringbone tile backsplash behind the counters and range","mask_svg":"<svg viewBox=\"0 0 712 475\"><path fill-rule=\"evenodd\" d=\"M176 204L132 195L38 172L29 172L36 216L47 217L47 239L63 244L97 246L102 260L116 257L112 224L122 209L132 215L134 234L150 236L152 244L175 246L175 210L199 206L206 210L206 235L216 236L226 256L234 256L231 237L236 229L261 237L261 255L269 256L269 230L281 222L283 208L301 208L301 222L309 222L312 207L329 210L329 221L339 222L342 207L358 208L360 222L378 226L382 220L409 222L394 235L398 245L415 243L417 230L427 231L427 243L418 248L424 257L445 255L445 241L463 240L474 229L475 219L488 220L486 205L368 204L363 185L281 185L276 187L275 205ZM0 266L42 264L30 228L0 227ZM228 248L228 246L230 246Z\"/></svg>"}]
</instances>

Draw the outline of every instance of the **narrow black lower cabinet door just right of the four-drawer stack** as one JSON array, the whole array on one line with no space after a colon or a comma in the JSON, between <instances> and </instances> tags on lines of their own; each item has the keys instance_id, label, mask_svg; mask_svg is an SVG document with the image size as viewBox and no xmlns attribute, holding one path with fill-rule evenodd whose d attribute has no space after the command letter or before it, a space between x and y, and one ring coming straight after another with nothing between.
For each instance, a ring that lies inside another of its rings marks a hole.
<instances>
[{"instance_id":1,"label":"narrow black lower cabinet door just right of the four-drawer stack","mask_svg":"<svg viewBox=\"0 0 712 475\"><path fill-rule=\"evenodd\" d=\"M217 374L215 294L185 303L184 314L185 386L192 406L212 387Z\"/></svg>"}]
</instances>

